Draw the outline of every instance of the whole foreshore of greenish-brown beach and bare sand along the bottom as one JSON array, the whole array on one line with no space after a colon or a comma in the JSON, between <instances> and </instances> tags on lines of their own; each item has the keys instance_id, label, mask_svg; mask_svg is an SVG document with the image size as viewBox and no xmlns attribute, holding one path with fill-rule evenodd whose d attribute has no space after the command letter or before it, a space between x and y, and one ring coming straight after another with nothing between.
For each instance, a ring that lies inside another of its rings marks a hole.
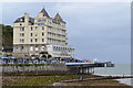
<instances>
[{"instance_id":1,"label":"whole foreshore of greenish-brown beach and bare sand along the bottom","mask_svg":"<svg viewBox=\"0 0 133 88\"><path fill-rule=\"evenodd\" d=\"M79 75L53 75L53 76L4 76L2 79L2 86L123 86L117 80L104 79L104 80L89 80L89 81L75 81L63 82L64 80L79 79ZM103 76L84 75L85 78L98 78Z\"/></svg>"}]
</instances>

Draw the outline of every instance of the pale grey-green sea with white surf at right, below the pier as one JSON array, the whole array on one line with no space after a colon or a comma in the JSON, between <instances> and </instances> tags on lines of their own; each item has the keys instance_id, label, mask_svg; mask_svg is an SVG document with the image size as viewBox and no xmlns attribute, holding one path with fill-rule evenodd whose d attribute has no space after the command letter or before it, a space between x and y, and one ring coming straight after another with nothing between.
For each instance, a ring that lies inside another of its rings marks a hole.
<instances>
[{"instance_id":1,"label":"pale grey-green sea with white surf at right, below the pier","mask_svg":"<svg viewBox=\"0 0 133 88\"><path fill-rule=\"evenodd\" d=\"M114 67L95 68L95 75L100 76L133 76L131 64L115 64ZM115 79L121 84L133 86L133 78Z\"/></svg>"}]
</instances>

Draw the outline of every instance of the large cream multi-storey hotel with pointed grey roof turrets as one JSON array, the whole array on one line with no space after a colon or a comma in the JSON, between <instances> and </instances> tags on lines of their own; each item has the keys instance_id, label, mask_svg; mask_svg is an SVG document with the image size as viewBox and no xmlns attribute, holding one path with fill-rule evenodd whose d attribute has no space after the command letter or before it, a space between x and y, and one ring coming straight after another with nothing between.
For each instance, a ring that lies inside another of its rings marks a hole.
<instances>
[{"instance_id":1,"label":"large cream multi-storey hotel with pointed grey roof turrets","mask_svg":"<svg viewBox=\"0 0 133 88\"><path fill-rule=\"evenodd\" d=\"M52 57L74 56L74 47L68 45L66 23L59 13L50 18L44 8L38 16L24 13L13 23L13 54L39 55L40 52Z\"/></svg>"}]
</instances>

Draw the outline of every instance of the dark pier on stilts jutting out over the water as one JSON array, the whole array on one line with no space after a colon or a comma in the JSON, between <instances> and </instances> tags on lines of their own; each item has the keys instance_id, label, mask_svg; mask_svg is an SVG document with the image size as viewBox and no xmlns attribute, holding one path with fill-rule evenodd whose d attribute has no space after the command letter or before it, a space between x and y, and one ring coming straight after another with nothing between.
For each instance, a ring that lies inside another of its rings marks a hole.
<instances>
[{"instance_id":1,"label":"dark pier on stilts jutting out over the water","mask_svg":"<svg viewBox=\"0 0 133 88\"><path fill-rule=\"evenodd\" d=\"M105 63L65 63L65 66L71 72L75 72L78 74L94 74L95 67L114 67L114 64L111 62Z\"/></svg>"}]
</instances>

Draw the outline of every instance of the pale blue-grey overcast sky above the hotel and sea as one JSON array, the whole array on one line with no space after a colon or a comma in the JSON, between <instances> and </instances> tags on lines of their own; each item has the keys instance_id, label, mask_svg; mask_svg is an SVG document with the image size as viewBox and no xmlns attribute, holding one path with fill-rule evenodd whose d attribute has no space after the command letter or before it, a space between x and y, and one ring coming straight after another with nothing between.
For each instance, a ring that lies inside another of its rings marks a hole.
<instances>
[{"instance_id":1,"label":"pale blue-grey overcast sky above the hotel and sea","mask_svg":"<svg viewBox=\"0 0 133 88\"><path fill-rule=\"evenodd\" d=\"M75 58L96 58L100 62L111 61L113 63L130 63L130 3L2 3L2 23L13 25L13 21L17 18L23 16L24 12L34 18L41 11L43 6L51 18L59 12L66 22L69 45L75 47Z\"/></svg>"}]
</instances>

